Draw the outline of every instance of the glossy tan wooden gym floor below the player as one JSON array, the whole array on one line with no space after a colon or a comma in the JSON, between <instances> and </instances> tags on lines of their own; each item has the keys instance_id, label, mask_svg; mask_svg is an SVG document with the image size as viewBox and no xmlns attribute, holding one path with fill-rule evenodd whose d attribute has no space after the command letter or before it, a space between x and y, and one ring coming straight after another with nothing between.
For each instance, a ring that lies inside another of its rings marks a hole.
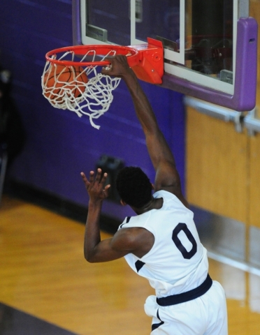
<instances>
[{"instance_id":1,"label":"glossy tan wooden gym floor below the player","mask_svg":"<svg viewBox=\"0 0 260 335\"><path fill-rule=\"evenodd\" d=\"M1 335L150 334L143 303L152 288L124 259L87 263L83 232L78 221L3 197ZM210 276L226 290L229 335L260 334L260 277L215 260L210 260Z\"/></svg>"}]
</instances>

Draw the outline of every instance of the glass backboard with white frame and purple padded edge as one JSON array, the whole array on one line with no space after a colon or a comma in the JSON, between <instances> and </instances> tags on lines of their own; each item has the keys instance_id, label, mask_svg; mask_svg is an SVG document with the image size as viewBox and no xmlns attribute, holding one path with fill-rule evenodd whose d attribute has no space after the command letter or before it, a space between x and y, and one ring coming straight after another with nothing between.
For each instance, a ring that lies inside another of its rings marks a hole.
<instances>
[{"instance_id":1,"label":"glass backboard with white frame and purple padded edge","mask_svg":"<svg viewBox=\"0 0 260 335\"><path fill-rule=\"evenodd\" d=\"M249 0L75 0L73 43L164 45L163 87L252 110L257 22Z\"/></svg>"}]
</instances>

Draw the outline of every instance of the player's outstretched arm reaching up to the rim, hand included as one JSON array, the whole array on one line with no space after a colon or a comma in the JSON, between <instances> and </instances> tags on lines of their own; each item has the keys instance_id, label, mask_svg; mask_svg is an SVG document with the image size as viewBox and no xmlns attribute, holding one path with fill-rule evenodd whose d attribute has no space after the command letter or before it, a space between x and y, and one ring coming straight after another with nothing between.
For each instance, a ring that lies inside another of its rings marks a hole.
<instances>
[{"instance_id":1,"label":"player's outstretched arm reaching up to the rim, hand included","mask_svg":"<svg viewBox=\"0 0 260 335\"><path fill-rule=\"evenodd\" d=\"M175 167L175 160L171 149L168 147L164 135L159 129L150 102L145 96L142 87L140 87L135 73L129 68L127 57L117 55L109 60L111 62L110 68L103 69L102 73L122 77L127 84L136 115L145 133L147 150L156 171L155 191L164 189L171 192L188 206L187 201L182 195L180 177Z\"/></svg>"}]
</instances>

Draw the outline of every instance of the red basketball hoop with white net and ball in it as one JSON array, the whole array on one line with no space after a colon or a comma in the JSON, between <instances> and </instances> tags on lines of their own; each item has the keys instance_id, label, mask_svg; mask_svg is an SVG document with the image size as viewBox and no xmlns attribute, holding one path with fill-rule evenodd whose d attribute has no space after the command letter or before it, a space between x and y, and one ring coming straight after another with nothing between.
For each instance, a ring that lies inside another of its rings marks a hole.
<instances>
[{"instance_id":1,"label":"red basketball hoop with white net and ball in it","mask_svg":"<svg viewBox=\"0 0 260 335\"><path fill-rule=\"evenodd\" d=\"M121 79L103 75L98 67L110 65L104 60L106 57L123 54L140 80L161 84L163 49L159 40L154 43L148 41L148 44L136 47L80 45L52 50L45 56L41 77L43 95L53 107L71 110L79 117L87 115L92 126L99 129L94 119L108 110L113 101L113 90Z\"/></svg>"}]
</instances>

